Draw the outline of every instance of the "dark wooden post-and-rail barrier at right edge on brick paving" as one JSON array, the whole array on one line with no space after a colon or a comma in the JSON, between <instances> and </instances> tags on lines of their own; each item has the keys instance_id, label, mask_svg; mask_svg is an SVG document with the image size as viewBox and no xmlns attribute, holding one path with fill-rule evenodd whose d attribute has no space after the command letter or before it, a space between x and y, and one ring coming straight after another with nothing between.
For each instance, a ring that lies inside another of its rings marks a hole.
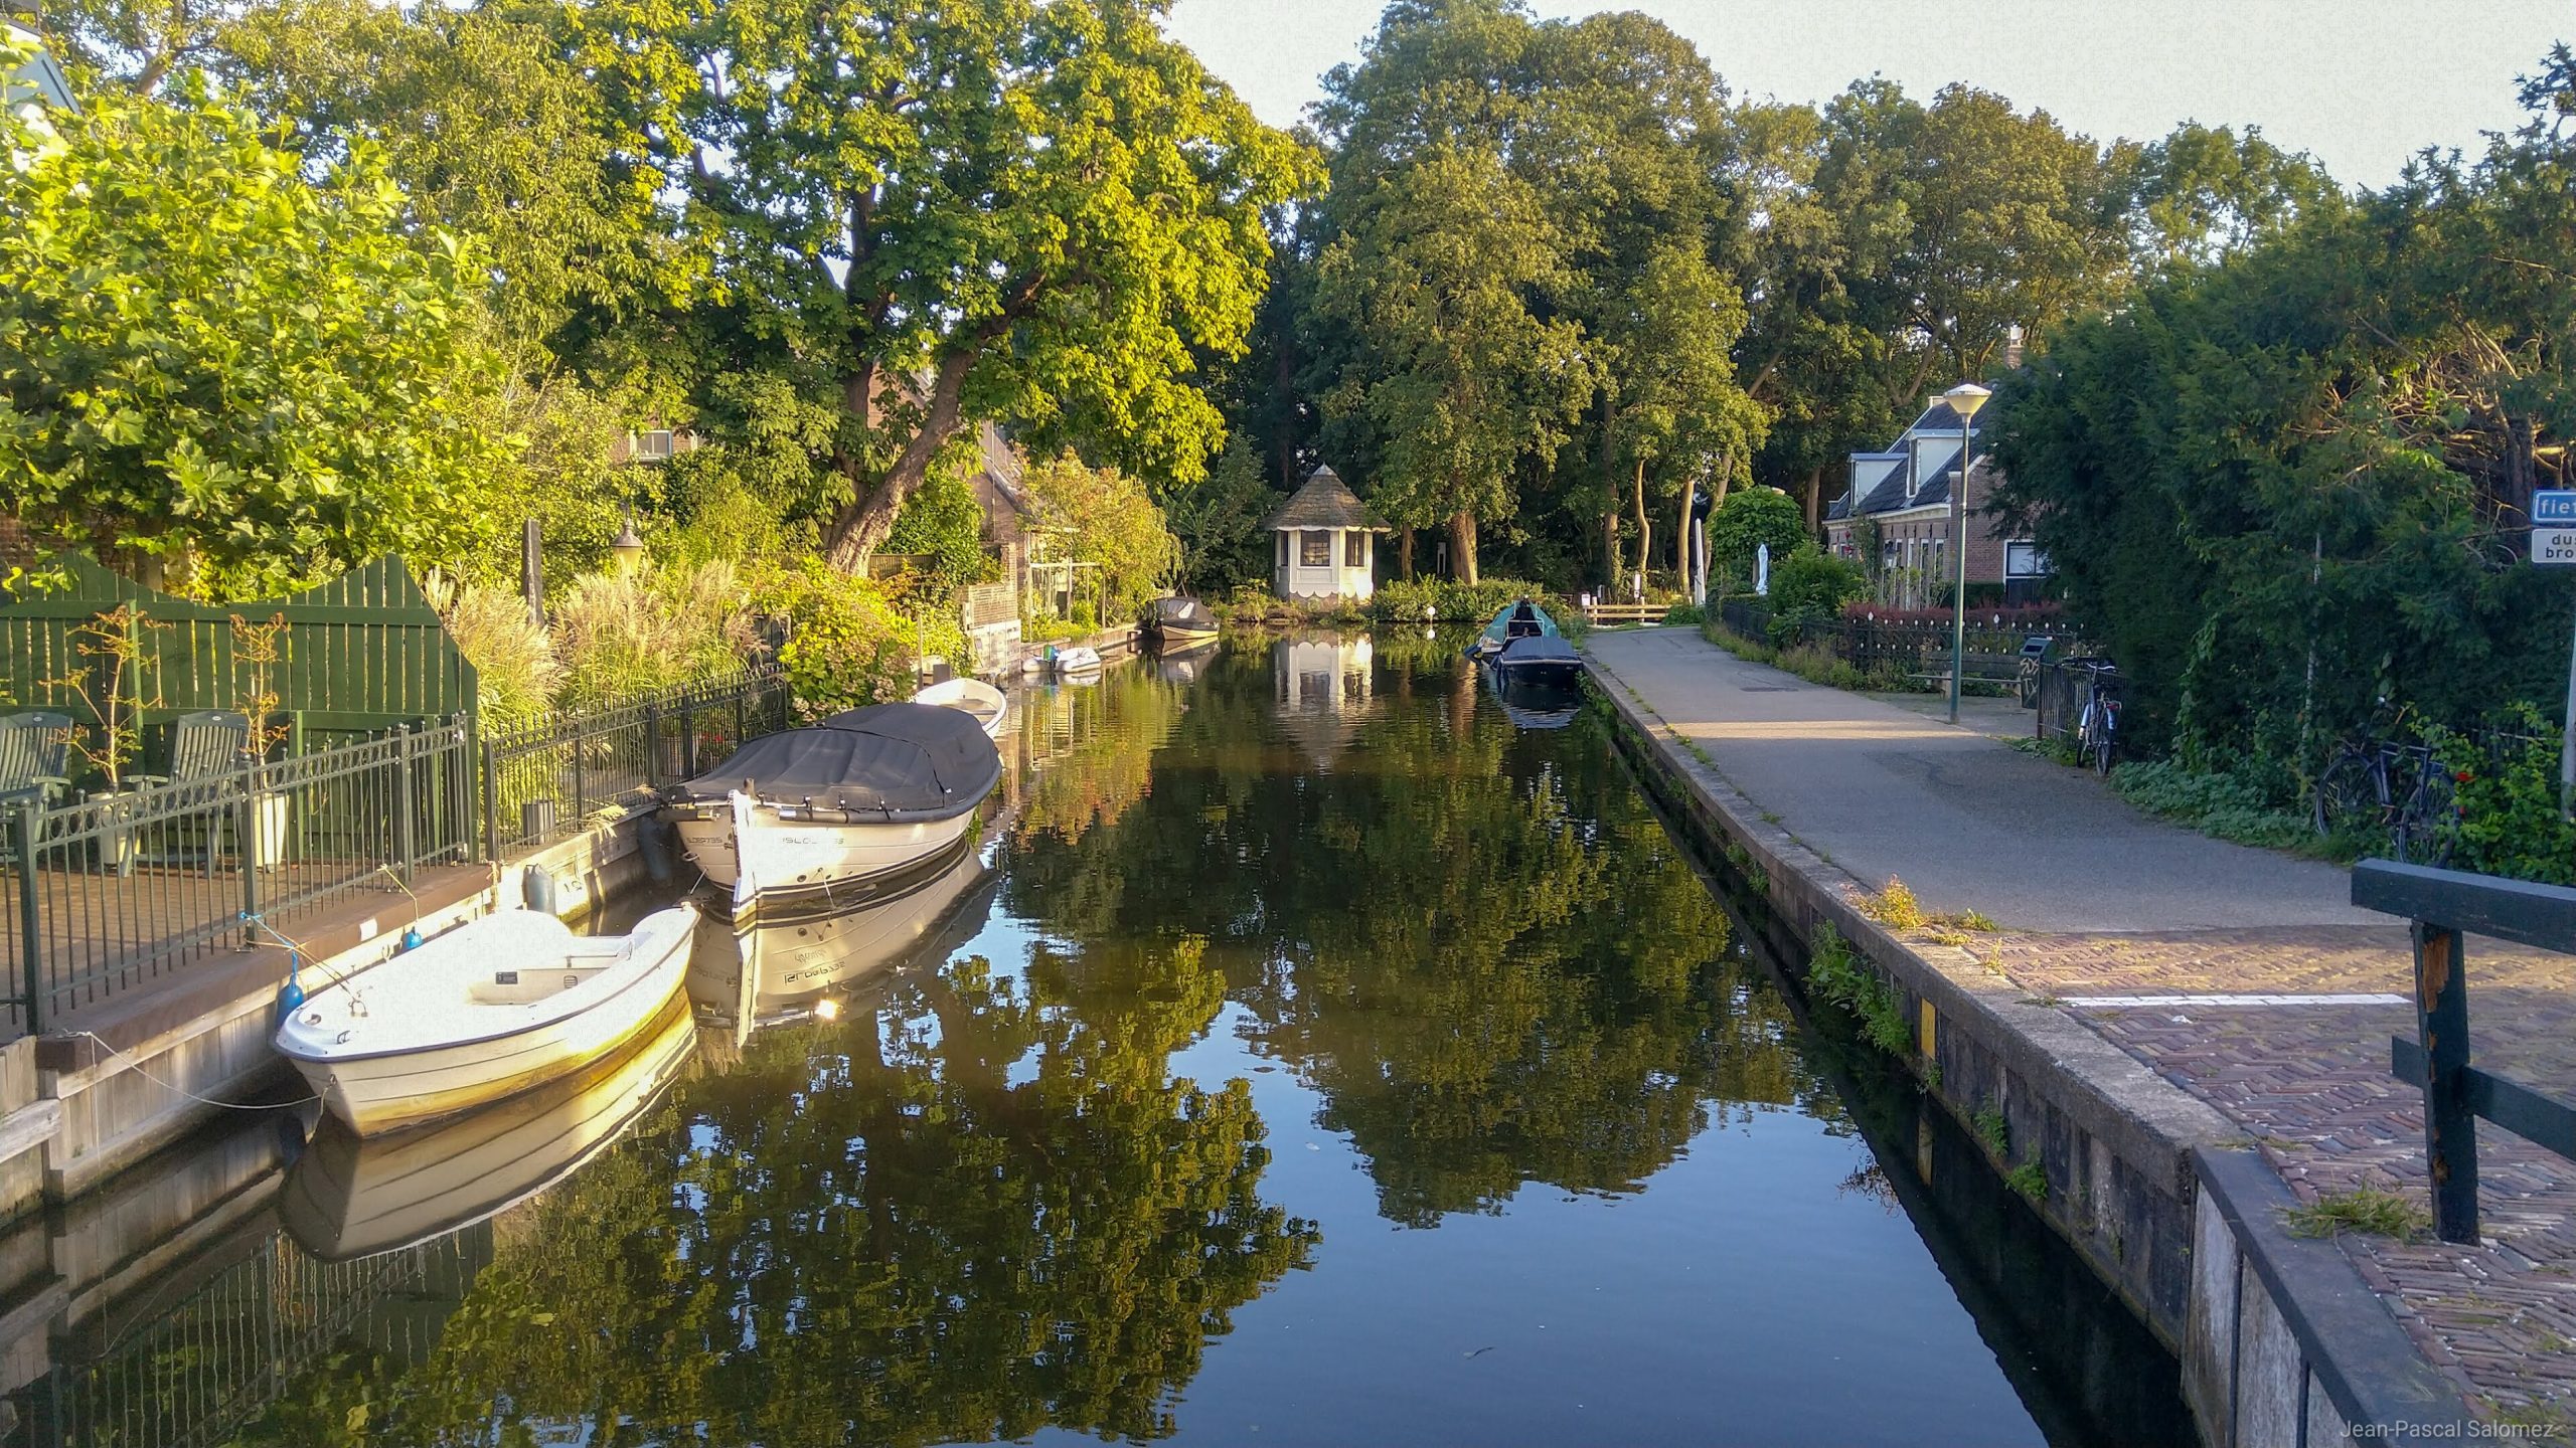
<instances>
[{"instance_id":1,"label":"dark wooden post-and-rail barrier at right edge on brick paving","mask_svg":"<svg viewBox=\"0 0 2576 1448\"><path fill-rule=\"evenodd\" d=\"M2352 904L2411 922L2416 1038L2388 1038L2388 1074L2424 1087L2434 1234L2478 1242L2478 1118L2576 1159L2576 1105L2468 1064L2465 938L2576 953L2576 889L2362 861Z\"/></svg>"}]
</instances>

